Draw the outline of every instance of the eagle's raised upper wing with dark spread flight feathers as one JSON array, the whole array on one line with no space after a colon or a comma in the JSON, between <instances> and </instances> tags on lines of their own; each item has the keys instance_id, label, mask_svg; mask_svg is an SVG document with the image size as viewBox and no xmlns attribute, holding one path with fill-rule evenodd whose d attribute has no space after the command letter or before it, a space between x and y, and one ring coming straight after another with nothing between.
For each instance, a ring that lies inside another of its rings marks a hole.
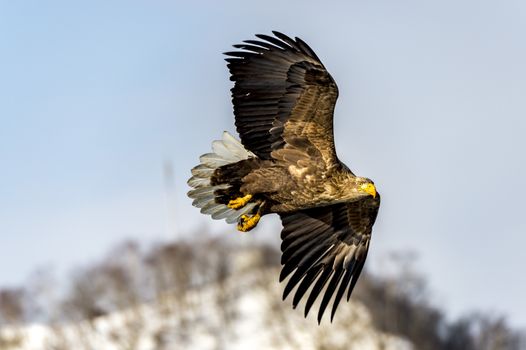
<instances>
[{"instance_id":1,"label":"eagle's raised upper wing with dark spread flight feathers","mask_svg":"<svg viewBox=\"0 0 526 350\"><path fill-rule=\"evenodd\" d=\"M262 159L301 156L330 167L338 163L333 138L338 87L305 42L273 33L234 45L243 51L225 53L241 142Z\"/></svg>"}]
</instances>

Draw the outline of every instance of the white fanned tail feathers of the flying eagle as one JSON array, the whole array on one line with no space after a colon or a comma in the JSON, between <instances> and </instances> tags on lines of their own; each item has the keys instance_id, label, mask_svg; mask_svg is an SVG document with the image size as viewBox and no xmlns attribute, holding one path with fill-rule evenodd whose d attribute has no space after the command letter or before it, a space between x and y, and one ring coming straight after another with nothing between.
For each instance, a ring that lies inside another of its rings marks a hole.
<instances>
[{"instance_id":1,"label":"white fanned tail feathers of the flying eagle","mask_svg":"<svg viewBox=\"0 0 526 350\"><path fill-rule=\"evenodd\" d=\"M229 164L234 164L249 158L257 158L256 155L246 150L243 145L228 132L223 132L223 139L212 142L212 153L203 154L199 159L201 163L192 169L192 177L188 185L192 190L188 196L194 201L192 204L201 208L201 213L209 214L214 219L226 219L228 223L239 222L241 217L252 213L258 203L243 203L238 209L228 206L225 202L225 194L237 192L235 188L239 179L233 181L218 182L213 179L217 176L219 168L225 169Z\"/></svg>"}]
</instances>

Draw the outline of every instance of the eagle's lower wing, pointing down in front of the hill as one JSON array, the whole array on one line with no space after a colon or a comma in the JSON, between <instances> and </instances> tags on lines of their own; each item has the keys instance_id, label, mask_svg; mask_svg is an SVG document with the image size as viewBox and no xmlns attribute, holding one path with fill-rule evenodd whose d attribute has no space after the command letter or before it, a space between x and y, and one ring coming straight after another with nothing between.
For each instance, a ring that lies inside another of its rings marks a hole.
<instances>
[{"instance_id":1,"label":"eagle's lower wing, pointing down in front of the hill","mask_svg":"<svg viewBox=\"0 0 526 350\"><path fill-rule=\"evenodd\" d=\"M360 276L379 206L378 195L353 203L281 214L283 268L280 281L294 272L285 286L283 299L299 284L293 298L293 306L296 307L309 287L314 285L305 305L307 316L328 282L320 304L318 322L336 292L332 304L332 321L343 294L347 290L349 300Z\"/></svg>"}]
</instances>

